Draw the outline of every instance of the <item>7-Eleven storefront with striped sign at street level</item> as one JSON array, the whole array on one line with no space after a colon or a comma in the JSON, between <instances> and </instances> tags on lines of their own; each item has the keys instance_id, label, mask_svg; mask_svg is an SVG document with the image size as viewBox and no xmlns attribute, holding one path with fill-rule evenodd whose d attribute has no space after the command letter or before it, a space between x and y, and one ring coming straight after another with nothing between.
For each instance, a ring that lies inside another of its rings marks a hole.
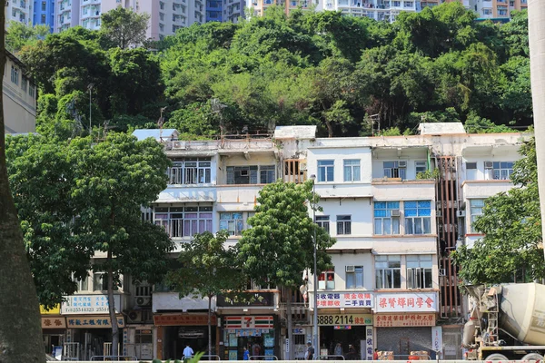
<instances>
[{"instance_id":1,"label":"7-Eleven storefront with striped sign at street level","mask_svg":"<svg viewBox=\"0 0 545 363\"><path fill-rule=\"evenodd\" d=\"M274 316L223 316L223 360L243 360L244 347L251 356L272 360L277 355ZM267 358L271 357L271 358Z\"/></svg>"}]
</instances>

